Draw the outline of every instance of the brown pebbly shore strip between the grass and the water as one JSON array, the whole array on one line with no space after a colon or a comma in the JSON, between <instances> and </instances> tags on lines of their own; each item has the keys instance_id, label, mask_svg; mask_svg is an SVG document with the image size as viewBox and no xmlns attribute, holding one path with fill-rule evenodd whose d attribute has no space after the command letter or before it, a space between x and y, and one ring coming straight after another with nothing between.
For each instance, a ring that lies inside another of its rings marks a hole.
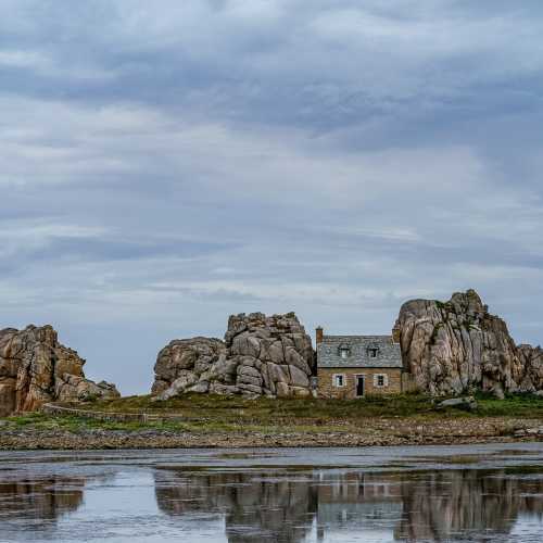
<instances>
[{"instance_id":1,"label":"brown pebbly shore strip between the grass and the water","mask_svg":"<svg viewBox=\"0 0 543 543\"><path fill-rule=\"evenodd\" d=\"M263 429L199 431L141 428L36 429L0 427L0 450L99 450L176 447L331 447L376 445L447 445L543 441L543 421L525 418L470 418L420 421L395 418L368 421L363 429L338 431Z\"/></svg>"}]
</instances>

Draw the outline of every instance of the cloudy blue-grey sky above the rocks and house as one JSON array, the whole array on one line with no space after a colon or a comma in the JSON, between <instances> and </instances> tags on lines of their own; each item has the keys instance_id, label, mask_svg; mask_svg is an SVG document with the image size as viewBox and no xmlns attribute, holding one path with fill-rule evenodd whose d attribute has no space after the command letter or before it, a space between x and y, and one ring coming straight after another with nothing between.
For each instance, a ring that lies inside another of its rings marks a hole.
<instances>
[{"instance_id":1,"label":"cloudy blue-grey sky above the rocks and house","mask_svg":"<svg viewBox=\"0 0 543 543\"><path fill-rule=\"evenodd\" d=\"M543 339L540 0L0 0L0 328L87 376L230 314L389 333L476 289Z\"/></svg>"}]
</instances>

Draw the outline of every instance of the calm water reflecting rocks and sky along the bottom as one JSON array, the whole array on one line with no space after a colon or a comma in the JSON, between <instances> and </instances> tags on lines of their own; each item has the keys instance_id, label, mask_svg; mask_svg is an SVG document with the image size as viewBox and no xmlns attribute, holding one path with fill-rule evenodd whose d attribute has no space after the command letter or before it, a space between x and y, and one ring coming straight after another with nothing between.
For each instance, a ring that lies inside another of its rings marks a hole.
<instances>
[{"instance_id":1,"label":"calm water reflecting rocks and sky along the bottom","mask_svg":"<svg viewBox=\"0 0 543 543\"><path fill-rule=\"evenodd\" d=\"M543 444L0 453L0 541L543 541Z\"/></svg>"}]
</instances>

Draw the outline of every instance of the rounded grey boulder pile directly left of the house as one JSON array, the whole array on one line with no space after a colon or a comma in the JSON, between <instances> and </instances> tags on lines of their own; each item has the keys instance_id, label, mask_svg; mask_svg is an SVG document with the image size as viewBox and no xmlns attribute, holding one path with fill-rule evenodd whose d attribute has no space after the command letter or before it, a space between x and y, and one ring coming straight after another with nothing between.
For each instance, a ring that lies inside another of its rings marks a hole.
<instances>
[{"instance_id":1,"label":"rounded grey boulder pile directly left of the house","mask_svg":"<svg viewBox=\"0 0 543 543\"><path fill-rule=\"evenodd\" d=\"M308 395L313 367L311 338L293 313L232 315L225 342L194 338L164 348L152 393L161 400L184 392Z\"/></svg>"}]
</instances>

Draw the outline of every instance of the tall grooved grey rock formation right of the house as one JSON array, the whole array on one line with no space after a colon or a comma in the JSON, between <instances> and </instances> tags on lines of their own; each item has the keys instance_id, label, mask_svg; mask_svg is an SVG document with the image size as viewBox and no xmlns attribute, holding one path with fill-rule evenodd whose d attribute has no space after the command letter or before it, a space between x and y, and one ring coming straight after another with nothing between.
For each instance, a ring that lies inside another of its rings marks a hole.
<instances>
[{"instance_id":1,"label":"tall grooved grey rock formation right of the house","mask_svg":"<svg viewBox=\"0 0 543 543\"><path fill-rule=\"evenodd\" d=\"M473 290L446 303L405 303L396 329L404 365L419 390L443 395L477 388L501 396L543 389L543 351L517 346L505 321Z\"/></svg>"}]
</instances>

